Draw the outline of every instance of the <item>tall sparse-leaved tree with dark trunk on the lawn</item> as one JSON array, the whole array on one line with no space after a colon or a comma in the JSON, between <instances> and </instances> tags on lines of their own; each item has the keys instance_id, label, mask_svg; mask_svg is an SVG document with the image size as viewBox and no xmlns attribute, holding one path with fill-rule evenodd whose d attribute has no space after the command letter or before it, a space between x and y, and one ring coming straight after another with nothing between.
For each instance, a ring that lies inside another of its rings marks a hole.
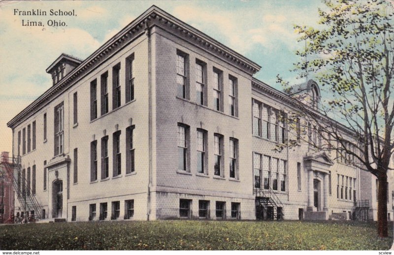
<instances>
[{"instance_id":1,"label":"tall sparse-leaved tree with dark trunk on the lawn","mask_svg":"<svg viewBox=\"0 0 394 255\"><path fill-rule=\"evenodd\" d=\"M319 104L320 115L300 105L294 116L309 111L305 118L324 140L306 138L315 148L335 150L337 157L377 177L378 235L387 237L387 174L394 150L393 6L384 0L323 2L316 28L295 27L299 41L305 41L305 49L296 52L295 70L301 79L313 75L329 99ZM279 77L278 82L284 83Z\"/></svg>"}]
</instances>

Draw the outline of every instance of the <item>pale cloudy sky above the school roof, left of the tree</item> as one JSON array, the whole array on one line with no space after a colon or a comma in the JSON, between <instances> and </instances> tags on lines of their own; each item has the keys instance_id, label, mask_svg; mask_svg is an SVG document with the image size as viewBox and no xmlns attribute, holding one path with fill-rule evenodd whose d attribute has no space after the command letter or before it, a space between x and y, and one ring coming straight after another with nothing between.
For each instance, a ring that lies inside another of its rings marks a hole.
<instances>
[{"instance_id":1,"label":"pale cloudy sky above the school roof, left of the tree","mask_svg":"<svg viewBox=\"0 0 394 255\"><path fill-rule=\"evenodd\" d=\"M0 1L0 151L12 151L6 123L52 86L45 69L60 54L86 59L153 4L261 65L255 77L279 90L278 74L303 82L290 71L303 46L294 25L316 26L323 7L320 0ZM51 9L76 16L50 16ZM32 10L47 15L19 15ZM44 26L23 26L31 22Z\"/></svg>"}]
</instances>

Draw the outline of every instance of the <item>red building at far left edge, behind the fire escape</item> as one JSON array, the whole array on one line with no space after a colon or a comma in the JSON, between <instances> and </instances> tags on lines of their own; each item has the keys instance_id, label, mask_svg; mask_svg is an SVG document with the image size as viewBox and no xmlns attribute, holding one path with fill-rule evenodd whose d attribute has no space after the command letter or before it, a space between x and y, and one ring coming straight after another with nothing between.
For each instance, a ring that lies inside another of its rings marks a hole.
<instances>
[{"instance_id":1,"label":"red building at far left edge, behind the fire escape","mask_svg":"<svg viewBox=\"0 0 394 255\"><path fill-rule=\"evenodd\" d=\"M4 163L12 163L8 152L2 152L0 155L0 223L11 222L11 215L14 213L12 179L9 178Z\"/></svg>"}]
</instances>

